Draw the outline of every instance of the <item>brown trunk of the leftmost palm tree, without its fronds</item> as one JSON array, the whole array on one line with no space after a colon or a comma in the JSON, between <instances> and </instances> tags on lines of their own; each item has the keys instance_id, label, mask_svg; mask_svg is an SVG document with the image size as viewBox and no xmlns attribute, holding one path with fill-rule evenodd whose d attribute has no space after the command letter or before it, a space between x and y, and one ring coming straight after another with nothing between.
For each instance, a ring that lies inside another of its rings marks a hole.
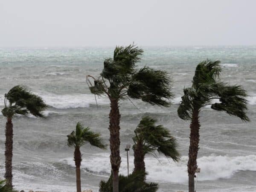
<instances>
[{"instance_id":1,"label":"brown trunk of the leftmost palm tree, without its fronds","mask_svg":"<svg viewBox=\"0 0 256 192\"><path fill-rule=\"evenodd\" d=\"M12 125L12 118L7 117L6 122L6 151L5 151L5 167L6 173L4 177L6 178L6 185L12 188L12 137L13 137L13 125Z\"/></svg>"}]
</instances>

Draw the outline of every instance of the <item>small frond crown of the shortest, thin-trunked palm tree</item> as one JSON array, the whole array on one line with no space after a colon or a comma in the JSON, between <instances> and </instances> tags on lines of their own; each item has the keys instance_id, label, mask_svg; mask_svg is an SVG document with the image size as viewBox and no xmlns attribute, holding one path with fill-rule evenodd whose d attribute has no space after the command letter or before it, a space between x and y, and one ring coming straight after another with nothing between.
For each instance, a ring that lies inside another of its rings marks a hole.
<instances>
[{"instance_id":1,"label":"small frond crown of the shortest, thin-trunked palm tree","mask_svg":"<svg viewBox=\"0 0 256 192\"><path fill-rule=\"evenodd\" d=\"M104 141L100 138L99 133L94 133L90 131L90 128L84 128L80 122L76 124L76 131L72 131L71 134L67 135L67 143L70 147L80 148L86 143L90 145L106 149L107 145L104 144Z\"/></svg>"}]
</instances>

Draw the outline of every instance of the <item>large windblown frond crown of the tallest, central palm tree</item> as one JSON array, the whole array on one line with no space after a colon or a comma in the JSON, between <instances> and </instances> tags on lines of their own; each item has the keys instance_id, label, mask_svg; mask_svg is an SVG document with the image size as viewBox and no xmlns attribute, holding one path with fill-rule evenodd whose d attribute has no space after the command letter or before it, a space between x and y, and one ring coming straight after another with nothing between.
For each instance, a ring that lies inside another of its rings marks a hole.
<instances>
[{"instance_id":1,"label":"large windblown frond crown of the tallest, central palm tree","mask_svg":"<svg viewBox=\"0 0 256 192\"><path fill-rule=\"evenodd\" d=\"M152 105L169 106L172 99L170 92L172 80L163 70L154 70L143 67L136 70L136 63L141 60L143 49L134 45L116 47L113 59L104 61L104 69L100 78L94 79L90 90L96 95L106 94L114 99L142 99ZM87 76L91 77L91 76Z\"/></svg>"}]
</instances>

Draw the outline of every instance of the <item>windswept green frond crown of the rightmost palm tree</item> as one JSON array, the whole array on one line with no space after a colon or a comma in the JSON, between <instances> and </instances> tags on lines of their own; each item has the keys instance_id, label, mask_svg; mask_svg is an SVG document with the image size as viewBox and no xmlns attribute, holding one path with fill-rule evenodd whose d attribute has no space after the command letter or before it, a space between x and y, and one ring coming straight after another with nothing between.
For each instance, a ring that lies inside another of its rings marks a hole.
<instances>
[{"instance_id":1,"label":"windswept green frond crown of the rightmost palm tree","mask_svg":"<svg viewBox=\"0 0 256 192\"><path fill-rule=\"evenodd\" d=\"M246 91L240 85L230 86L219 81L220 72L220 61L206 60L198 64L192 87L183 90L184 95L177 110L181 119L192 119L193 111L211 105L214 110L226 111L229 115L249 121ZM213 102L213 99L219 99L219 103Z\"/></svg>"}]
</instances>

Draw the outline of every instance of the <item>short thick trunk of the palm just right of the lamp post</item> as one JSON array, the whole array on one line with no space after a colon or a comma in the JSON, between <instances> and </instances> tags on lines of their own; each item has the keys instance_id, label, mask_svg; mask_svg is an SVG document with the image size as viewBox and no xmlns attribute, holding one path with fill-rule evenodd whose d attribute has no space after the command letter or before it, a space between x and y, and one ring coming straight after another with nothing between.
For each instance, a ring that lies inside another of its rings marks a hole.
<instances>
[{"instance_id":1,"label":"short thick trunk of the palm just right of the lamp post","mask_svg":"<svg viewBox=\"0 0 256 192\"><path fill-rule=\"evenodd\" d=\"M139 140L134 148L134 172L145 172L143 143Z\"/></svg>"}]
</instances>

